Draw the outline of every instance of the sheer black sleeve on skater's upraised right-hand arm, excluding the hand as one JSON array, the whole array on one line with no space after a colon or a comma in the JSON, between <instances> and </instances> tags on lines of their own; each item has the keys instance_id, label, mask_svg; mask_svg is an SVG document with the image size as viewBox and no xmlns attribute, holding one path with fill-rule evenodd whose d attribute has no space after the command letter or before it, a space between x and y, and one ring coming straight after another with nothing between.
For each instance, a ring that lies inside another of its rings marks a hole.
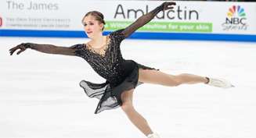
<instances>
[{"instance_id":1,"label":"sheer black sleeve on skater's upraised right-hand arm, excluding the hand","mask_svg":"<svg viewBox=\"0 0 256 138\"><path fill-rule=\"evenodd\" d=\"M158 6L156 9L153 9L151 12L146 13L143 16L140 16L139 19L137 19L134 23L126 27L124 30L122 30L122 34L124 34L124 37L130 36L135 30L138 30L139 27L144 26L146 23L149 23L150 20L153 19L154 16L157 16L157 13L164 9L164 5Z\"/></svg>"}]
</instances>

